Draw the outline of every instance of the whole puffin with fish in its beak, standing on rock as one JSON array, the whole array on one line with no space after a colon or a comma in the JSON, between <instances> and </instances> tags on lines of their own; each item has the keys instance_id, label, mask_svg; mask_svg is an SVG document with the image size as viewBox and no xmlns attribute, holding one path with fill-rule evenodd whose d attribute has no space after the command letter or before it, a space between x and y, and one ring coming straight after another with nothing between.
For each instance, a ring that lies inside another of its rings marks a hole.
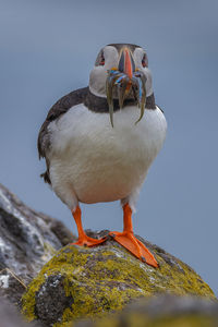
<instances>
[{"instance_id":1,"label":"whole puffin with fish in its beak, standing on rock","mask_svg":"<svg viewBox=\"0 0 218 327\"><path fill-rule=\"evenodd\" d=\"M49 110L38 134L41 174L74 217L73 245L97 246L82 225L81 203L120 201L123 231L109 235L140 261L158 267L134 235L132 214L148 169L167 133L156 105L147 52L132 44L110 44L98 53L87 87L71 92Z\"/></svg>"}]
</instances>

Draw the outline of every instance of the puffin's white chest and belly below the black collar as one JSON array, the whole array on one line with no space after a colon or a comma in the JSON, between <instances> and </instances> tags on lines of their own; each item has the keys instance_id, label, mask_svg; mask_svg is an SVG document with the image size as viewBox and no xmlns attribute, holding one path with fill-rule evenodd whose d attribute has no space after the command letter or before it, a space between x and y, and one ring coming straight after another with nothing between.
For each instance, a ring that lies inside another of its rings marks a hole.
<instances>
[{"instance_id":1,"label":"puffin's white chest and belly below the black collar","mask_svg":"<svg viewBox=\"0 0 218 327\"><path fill-rule=\"evenodd\" d=\"M138 114L135 107L117 111L112 128L108 113L78 105L52 122L49 160L53 190L60 194L59 189L68 184L81 202L96 203L126 197L138 187L167 130L158 108L145 110L135 124Z\"/></svg>"}]
</instances>

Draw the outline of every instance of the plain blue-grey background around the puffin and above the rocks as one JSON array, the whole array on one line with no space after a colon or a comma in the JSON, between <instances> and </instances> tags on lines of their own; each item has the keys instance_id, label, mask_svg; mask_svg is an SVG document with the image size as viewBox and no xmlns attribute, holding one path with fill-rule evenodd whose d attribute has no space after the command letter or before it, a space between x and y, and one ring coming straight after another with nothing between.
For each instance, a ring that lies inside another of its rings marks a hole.
<instances>
[{"instance_id":1,"label":"plain blue-grey background around the puffin and above the rocks","mask_svg":"<svg viewBox=\"0 0 218 327\"><path fill-rule=\"evenodd\" d=\"M87 86L101 47L142 46L168 134L134 230L191 265L218 295L217 12L216 0L0 0L0 182L76 233L39 178L39 128L61 96ZM118 202L82 209L85 228L122 230Z\"/></svg>"}]
</instances>

